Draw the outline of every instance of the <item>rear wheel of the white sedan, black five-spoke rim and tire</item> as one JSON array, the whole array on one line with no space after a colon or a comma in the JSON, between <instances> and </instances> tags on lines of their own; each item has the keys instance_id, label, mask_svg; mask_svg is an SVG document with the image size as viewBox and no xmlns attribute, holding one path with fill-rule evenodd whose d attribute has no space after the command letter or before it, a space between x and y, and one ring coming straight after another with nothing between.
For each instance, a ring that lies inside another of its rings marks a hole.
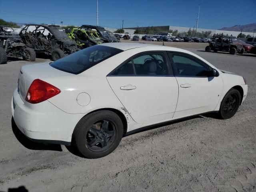
<instances>
[{"instance_id":1,"label":"rear wheel of the white sedan, black five-spoke rim and tire","mask_svg":"<svg viewBox=\"0 0 256 192\"><path fill-rule=\"evenodd\" d=\"M84 116L76 125L73 138L84 157L101 158L117 148L123 134L120 117L112 111L102 110Z\"/></svg>"}]
</instances>

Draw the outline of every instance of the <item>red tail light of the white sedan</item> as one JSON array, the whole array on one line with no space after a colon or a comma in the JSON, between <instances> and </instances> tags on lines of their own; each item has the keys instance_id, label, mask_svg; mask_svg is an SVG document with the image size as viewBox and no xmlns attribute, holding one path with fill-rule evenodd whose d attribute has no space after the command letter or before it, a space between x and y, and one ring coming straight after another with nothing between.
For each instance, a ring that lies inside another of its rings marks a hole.
<instances>
[{"instance_id":1,"label":"red tail light of the white sedan","mask_svg":"<svg viewBox=\"0 0 256 192\"><path fill-rule=\"evenodd\" d=\"M32 104L36 104L56 96L59 93L60 90L55 86L40 79L36 79L32 82L28 89L26 101Z\"/></svg>"}]
</instances>

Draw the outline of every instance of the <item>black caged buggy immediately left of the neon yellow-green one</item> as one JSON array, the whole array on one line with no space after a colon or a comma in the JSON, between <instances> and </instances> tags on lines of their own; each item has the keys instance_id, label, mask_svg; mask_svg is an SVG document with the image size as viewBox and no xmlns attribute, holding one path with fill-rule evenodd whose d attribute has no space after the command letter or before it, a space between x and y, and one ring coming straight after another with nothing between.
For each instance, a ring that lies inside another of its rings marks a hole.
<instances>
[{"instance_id":1,"label":"black caged buggy immediately left of the neon yellow-green one","mask_svg":"<svg viewBox=\"0 0 256 192\"><path fill-rule=\"evenodd\" d=\"M20 37L27 47L51 54L54 61L77 51L76 42L58 25L26 25Z\"/></svg>"}]
</instances>

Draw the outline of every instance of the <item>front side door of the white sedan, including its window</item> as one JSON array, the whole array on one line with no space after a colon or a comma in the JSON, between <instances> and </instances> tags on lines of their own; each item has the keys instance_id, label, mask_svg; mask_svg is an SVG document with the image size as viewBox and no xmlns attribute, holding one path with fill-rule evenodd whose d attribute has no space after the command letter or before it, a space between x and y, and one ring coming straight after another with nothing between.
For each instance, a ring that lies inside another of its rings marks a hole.
<instances>
[{"instance_id":1,"label":"front side door of the white sedan, including its window","mask_svg":"<svg viewBox=\"0 0 256 192\"><path fill-rule=\"evenodd\" d=\"M213 111L223 89L220 76L209 76L212 68L189 54L170 52L179 96L173 118Z\"/></svg>"}]
</instances>

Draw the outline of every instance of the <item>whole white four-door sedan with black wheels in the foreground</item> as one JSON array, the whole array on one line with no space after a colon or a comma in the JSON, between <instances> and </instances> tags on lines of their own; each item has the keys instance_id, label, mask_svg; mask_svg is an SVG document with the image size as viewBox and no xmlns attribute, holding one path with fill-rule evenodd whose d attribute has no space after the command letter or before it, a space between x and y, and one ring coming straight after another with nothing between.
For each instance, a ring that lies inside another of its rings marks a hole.
<instances>
[{"instance_id":1,"label":"whole white four-door sedan with black wheels in the foreground","mask_svg":"<svg viewBox=\"0 0 256 192\"><path fill-rule=\"evenodd\" d=\"M12 115L31 140L73 140L82 155L100 158L140 128L210 112L231 118L247 89L242 76L187 50L106 43L22 66Z\"/></svg>"}]
</instances>

